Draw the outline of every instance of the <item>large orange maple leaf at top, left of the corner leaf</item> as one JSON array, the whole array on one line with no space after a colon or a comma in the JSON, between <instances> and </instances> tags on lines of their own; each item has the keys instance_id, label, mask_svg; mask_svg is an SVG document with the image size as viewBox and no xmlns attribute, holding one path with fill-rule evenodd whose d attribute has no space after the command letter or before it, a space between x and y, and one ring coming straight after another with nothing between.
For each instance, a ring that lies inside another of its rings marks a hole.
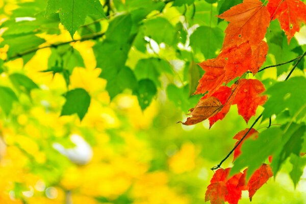
<instances>
[{"instance_id":1,"label":"large orange maple leaf at top, left of the corner leaf","mask_svg":"<svg viewBox=\"0 0 306 204\"><path fill-rule=\"evenodd\" d=\"M230 22L225 29L223 48L246 41L258 44L264 39L270 23L270 14L259 0L244 0L218 17Z\"/></svg>"}]
</instances>

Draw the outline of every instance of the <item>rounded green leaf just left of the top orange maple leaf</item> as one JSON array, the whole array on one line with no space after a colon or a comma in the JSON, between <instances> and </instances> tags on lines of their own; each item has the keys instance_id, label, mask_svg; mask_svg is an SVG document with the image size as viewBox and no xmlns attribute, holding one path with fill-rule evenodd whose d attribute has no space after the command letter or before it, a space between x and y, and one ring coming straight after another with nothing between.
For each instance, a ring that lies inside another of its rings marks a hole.
<instances>
[{"instance_id":1,"label":"rounded green leaf just left of the top orange maple leaf","mask_svg":"<svg viewBox=\"0 0 306 204\"><path fill-rule=\"evenodd\" d=\"M205 37L204 37L205 36ZM224 33L219 28L198 27L190 36L190 46L195 53L202 53L206 59L215 58L221 48Z\"/></svg>"}]
</instances>

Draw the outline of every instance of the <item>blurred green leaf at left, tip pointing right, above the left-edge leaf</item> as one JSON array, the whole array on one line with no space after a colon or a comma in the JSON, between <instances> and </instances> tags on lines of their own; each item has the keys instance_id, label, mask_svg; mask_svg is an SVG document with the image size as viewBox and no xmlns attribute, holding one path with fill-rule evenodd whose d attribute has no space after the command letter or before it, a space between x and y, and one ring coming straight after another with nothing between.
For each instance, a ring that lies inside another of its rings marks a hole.
<instances>
[{"instance_id":1,"label":"blurred green leaf at left, tip pointing right, above the left-edge leaf","mask_svg":"<svg viewBox=\"0 0 306 204\"><path fill-rule=\"evenodd\" d=\"M39 87L26 75L20 73L13 73L9 76L14 87L19 91L24 91L30 94L32 89L38 89Z\"/></svg>"}]
</instances>

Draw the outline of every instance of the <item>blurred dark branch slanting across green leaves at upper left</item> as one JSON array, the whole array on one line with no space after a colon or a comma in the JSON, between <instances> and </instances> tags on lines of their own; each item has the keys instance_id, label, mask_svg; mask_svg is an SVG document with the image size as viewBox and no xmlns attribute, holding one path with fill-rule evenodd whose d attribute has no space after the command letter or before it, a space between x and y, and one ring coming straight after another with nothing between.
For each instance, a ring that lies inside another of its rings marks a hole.
<instances>
[{"instance_id":1,"label":"blurred dark branch slanting across green leaves at upper left","mask_svg":"<svg viewBox=\"0 0 306 204\"><path fill-rule=\"evenodd\" d=\"M22 56L25 56L25 55L28 55L28 54L31 54L31 53L35 53L37 50L39 49L44 49L44 48L48 48L48 47L58 47L58 46L62 46L62 45L65 45L65 44L69 44L71 42L78 42L78 41L85 41L85 40L93 40L93 39L97 39L97 38L100 38L102 36L104 36L105 33L94 33L92 35L88 35L86 37L83 37L83 38L80 38L80 39L77 39L77 40L70 40L70 41L66 41L66 42L60 42L60 43L55 43L55 44L49 44L49 45L45 45L45 46L42 46L42 47L34 47L32 49L29 49L29 50L25 50L24 52L22 53L17 53L15 54L14 56L12 57L9 57L7 58L6 60L4 60L4 62L8 62L10 60L13 60L13 59L16 59L16 58L20 58Z\"/></svg>"}]
</instances>

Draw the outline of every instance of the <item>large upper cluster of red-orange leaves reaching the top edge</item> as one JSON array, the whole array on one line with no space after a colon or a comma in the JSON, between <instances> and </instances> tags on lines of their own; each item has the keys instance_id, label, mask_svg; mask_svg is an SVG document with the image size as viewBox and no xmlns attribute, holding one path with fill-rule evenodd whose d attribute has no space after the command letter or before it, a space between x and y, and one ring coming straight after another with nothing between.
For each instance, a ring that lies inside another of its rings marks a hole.
<instances>
[{"instance_id":1,"label":"large upper cluster of red-orange leaves reaching the top edge","mask_svg":"<svg viewBox=\"0 0 306 204\"><path fill-rule=\"evenodd\" d=\"M231 105L248 122L258 106L267 100L259 80L239 79L231 87L223 86L247 71L256 74L266 61L268 44L263 41L270 21L278 19L288 38L306 23L306 5L299 0L270 0L267 7L259 0L244 0L218 16L228 21L221 52L215 59L199 63L205 73L194 94L206 94L183 122L192 125L209 118L210 127L222 120ZM211 103L213 101L213 103ZM211 106L212 105L212 106Z\"/></svg>"}]
</instances>

